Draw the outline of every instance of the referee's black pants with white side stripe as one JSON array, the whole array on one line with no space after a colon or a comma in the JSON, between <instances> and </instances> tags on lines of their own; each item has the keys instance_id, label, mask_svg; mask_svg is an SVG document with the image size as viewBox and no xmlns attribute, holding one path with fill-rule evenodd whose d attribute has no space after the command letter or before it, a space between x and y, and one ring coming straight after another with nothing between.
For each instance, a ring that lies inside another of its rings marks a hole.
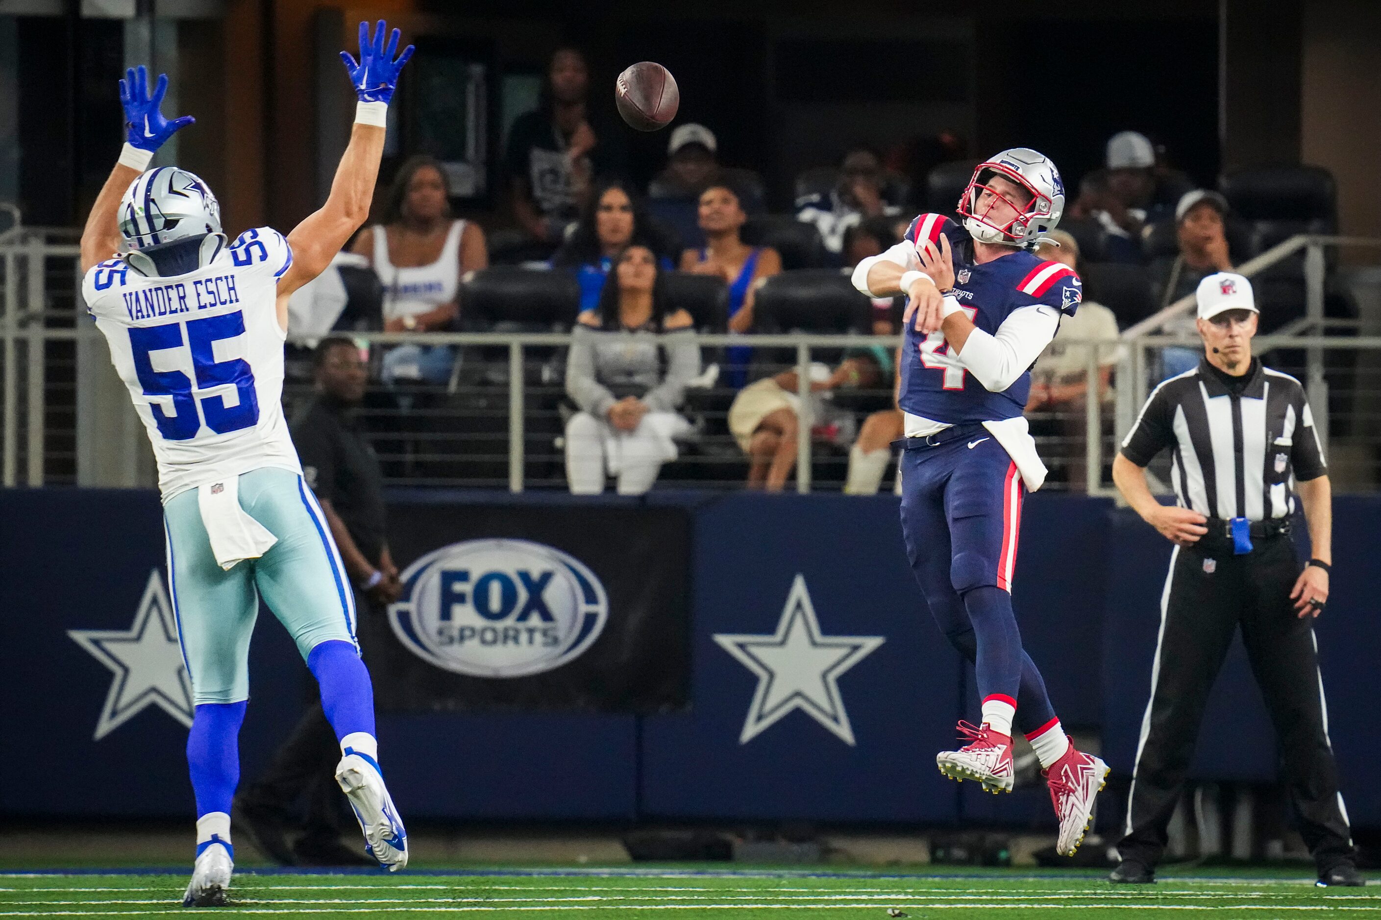
<instances>
[{"instance_id":1,"label":"referee's black pants with white side stripe","mask_svg":"<svg viewBox=\"0 0 1381 920\"><path fill-rule=\"evenodd\" d=\"M1207 559L1213 564L1206 565ZM1300 562L1288 537L1255 540L1255 550L1246 555L1232 555L1230 546L1175 550L1161 600L1160 640L1127 803L1127 829L1117 844L1123 859L1148 866L1160 861L1208 691L1239 624L1275 724L1304 841L1320 873L1352 858L1329 745L1312 617L1298 617L1290 600L1298 575ZM1217 735L1217 742L1230 745L1232 727L1221 728L1226 731Z\"/></svg>"}]
</instances>

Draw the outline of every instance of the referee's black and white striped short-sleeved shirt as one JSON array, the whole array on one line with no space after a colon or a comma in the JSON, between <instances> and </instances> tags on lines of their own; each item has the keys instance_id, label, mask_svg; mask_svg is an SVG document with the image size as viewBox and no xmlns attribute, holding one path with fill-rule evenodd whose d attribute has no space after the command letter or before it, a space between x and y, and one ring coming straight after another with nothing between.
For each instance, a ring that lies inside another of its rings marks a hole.
<instances>
[{"instance_id":1,"label":"referee's black and white striped short-sleeved shirt","mask_svg":"<svg viewBox=\"0 0 1381 920\"><path fill-rule=\"evenodd\" d=\"M1210 518L1287 517L1294 482L1327 472L1304 387L1255 358L1242 377L1201 359L1156 387L1121 453L1145 467L1166 448L1179 504Z\"/></svg>"}]
</instances>

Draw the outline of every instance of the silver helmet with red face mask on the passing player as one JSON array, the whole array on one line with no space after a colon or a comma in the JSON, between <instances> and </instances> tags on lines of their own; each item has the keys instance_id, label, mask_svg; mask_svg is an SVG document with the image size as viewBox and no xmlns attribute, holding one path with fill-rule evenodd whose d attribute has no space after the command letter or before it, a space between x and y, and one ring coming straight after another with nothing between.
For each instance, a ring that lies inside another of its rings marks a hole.
<instances>
[{"instance_id":1,"label":"silver helmet with red face mask on the passing player","mask_svg":"<svg viewBox=\"0 0 1381 920\"><path fill-rule=\"evenodd\" d=\"M997 175L1025 188L1030 192L1030 200L1022 204L992 188L987 182ZM978 198L985 191L1011 206L1016 215L1001 224L989 220L987 215L997 202L989 204L983 213L978 213ZM1034 246L1041 235L1055 229L1063 213L1065 184L1059 178L1059 170L1048 156L1025 146L1003 151L979 163L968 181L968 188L958 199L958 214L964 218L964 229L983 243Z\"/></svg>"}]
</instances>

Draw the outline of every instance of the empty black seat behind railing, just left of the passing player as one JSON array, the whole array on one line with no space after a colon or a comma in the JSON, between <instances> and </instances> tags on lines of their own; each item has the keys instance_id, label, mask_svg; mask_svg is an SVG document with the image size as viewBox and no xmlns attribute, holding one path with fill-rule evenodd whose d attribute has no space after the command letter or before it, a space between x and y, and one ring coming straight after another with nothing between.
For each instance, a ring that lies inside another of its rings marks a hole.
<instances>
[{"instance_id":1,"label":"empty black seat behind railing, just left of the passing player","mask_svg":"<svg viewBox=\"0 0 1381 920\"><path fill-rule=\"evenodd\" d=\"M842 272L798 269L766 279L753 311L754 332L869 332L873 301L853 290Z\"/></svg>"}]
</instances>

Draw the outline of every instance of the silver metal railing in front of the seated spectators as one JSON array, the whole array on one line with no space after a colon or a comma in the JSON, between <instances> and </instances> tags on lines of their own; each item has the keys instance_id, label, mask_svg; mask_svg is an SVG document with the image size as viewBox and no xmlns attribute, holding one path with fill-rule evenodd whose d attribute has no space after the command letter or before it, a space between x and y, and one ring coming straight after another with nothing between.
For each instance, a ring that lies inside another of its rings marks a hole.
<instances>
[{"instance_id":1,"label":"silver metal railing in front of the seated spectators","mask_svg":"<svg viewBox=\"0 0 1381 920\"><path fill-rule=\"evenodd\" d=\"M101 334L79 308L77 247L68 242L73 235L66 229L23 227L0 233L3 485L152 483L142 425L109 367ZM1378 247L1381 240L1295 236L1239 271L1255 275L1304 250L1304 316L1269 336L1259 336L1255 349L1272 366L1301 377L1326 445L1334 430L1344 434L1344 446L1352 452L1356 471L1352 488L1373 489L1381 481L1377 463L1381 456L1381 326L1371 330L1373 334L1360 336L1356 333L1366 330L1356 320L1323 316L1324 249L1330 246ZM1157 334L1156 330L1192 308L1193 298L1184 298L1123 333L1117 343L1121 358L1113 373L1113 406L1085 396L1029 414L1037 445L1055 474L1055 488L1083 479L1091 493L1112 490L1108 466L1116 449L1113 435L1131 427L1149 388L1160 380L1157 356L1167 347L1200 348L1197 338ZM562 406L561 367L570 341L568 334L354 333L354 337L376 354L405 343L450 345L464 369L464 373L457 370L449 384L436 387L371 384L373 403L365 410L366 428L380 448L392 482L507 486L512 492L565 485L561 439L569 408ZM1065 337L1059 341L1066 347L1085 347L1085 392L1098 392L1098 347L1108 348L1108 343ZM754 348L764 356L754 376L797 370L802 417L797 427L794 488L807 493L836 488L842 481L838 474L845 464L841 450L845 445L824 443L819 431L812 437L813 423L819 421L812 417L816 403L809 398L812 362L837 361L844 351L870 345L891 351L899 337L702 334L699 343L707 361L714 361L718 349L729 345ZM885 387L851 391L855 421L870 409L891 405L891 390ZM298 373L294 383L290 372L284 387L290 409L300 405L308 391L308 374ZM742 483L746 459L725 424L733 391L711 387L688 392L688 413L696 416L697 432L684 459L664 471L663 481L718 488ZM1076 443L1080 453L1072 456ZM470 470L464 468L465 463ZM141 464L142 478L112 475L112 470ZM428 464L434 467L431 472ZM1072 468L1076 464L1081 471Z\"/></svg>"}]
</instances>

